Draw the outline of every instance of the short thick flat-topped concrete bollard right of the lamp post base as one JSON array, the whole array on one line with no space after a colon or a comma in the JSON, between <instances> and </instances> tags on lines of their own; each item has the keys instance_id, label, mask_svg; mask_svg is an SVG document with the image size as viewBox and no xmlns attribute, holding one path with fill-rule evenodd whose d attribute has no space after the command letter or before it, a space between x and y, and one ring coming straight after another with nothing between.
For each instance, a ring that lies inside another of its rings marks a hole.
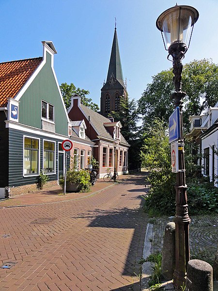
<instances>
[{"instance_id":1,"label":"short thick flat-topped concrete bollard right of the lamp post base","mask_svg":"<svg viewBox=\"0 0 218 291\"><path fill-rule=\"evenodd\" d=\"M201 259L191 259L187 265L186 291L213 291L213 268Z\"/></svg>"}]
</instances>

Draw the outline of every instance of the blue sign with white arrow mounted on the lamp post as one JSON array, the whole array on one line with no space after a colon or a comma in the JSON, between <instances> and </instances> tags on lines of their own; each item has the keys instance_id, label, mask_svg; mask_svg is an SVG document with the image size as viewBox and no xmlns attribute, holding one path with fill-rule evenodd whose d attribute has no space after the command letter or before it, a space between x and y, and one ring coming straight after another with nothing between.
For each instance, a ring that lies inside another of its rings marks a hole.
<instances>
[{"instance_id":1,"label":"blue sign with white arrow mounted on the lamp post","mask_svg":"<svg viewBox=\"0 0 218 291\"><path fill-rule=\"evenodd\" d=\"M179 107L173 111L169 118L169 143L178 141L180 139L180 118Z\"/></svg>"}]
</instances>

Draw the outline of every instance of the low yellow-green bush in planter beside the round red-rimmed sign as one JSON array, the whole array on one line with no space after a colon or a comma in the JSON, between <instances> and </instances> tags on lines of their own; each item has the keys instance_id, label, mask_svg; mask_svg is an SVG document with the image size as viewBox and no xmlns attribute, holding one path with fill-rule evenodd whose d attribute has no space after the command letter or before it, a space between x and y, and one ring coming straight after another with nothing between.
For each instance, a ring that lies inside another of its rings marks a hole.
<instances>
[{"instance_id":1,"label":"low yellow-green bush in planter beside the round red-rimmed sign","mask_svg":"<svg viewBox=\"0 0 218 291\"><path fill-rule=\"evenodd\" d=\"M66 184L76 183L79 183L79 192L89 192L91 186L89 172L86 170L68 170L66 172ZM64 187L64 177L60 178L59 184L62 188Z\"/></svg>"}]
</instances>

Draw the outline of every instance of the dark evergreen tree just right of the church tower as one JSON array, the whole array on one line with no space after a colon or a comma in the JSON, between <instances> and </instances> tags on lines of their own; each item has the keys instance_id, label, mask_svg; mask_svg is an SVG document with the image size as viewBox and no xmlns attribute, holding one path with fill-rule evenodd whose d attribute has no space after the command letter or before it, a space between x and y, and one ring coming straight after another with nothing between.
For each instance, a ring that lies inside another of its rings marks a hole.
<instances>
[{"instance_id":1,"label":"dark evergreen tree just right of the church tower","mask_svg":"<svg viewBox=\"0 0 218 291\"><path fill-rule=\"evenodd\" d=\"M128 163L130 169L140 167L140 147L142 140L140 139L138 121L140 116L137 109L137 102L132 99L120 97L120 111L110 114L115 121L122 124L121 133L125 140L130 144L128 150Z\"/></svg>"}]
</instances>

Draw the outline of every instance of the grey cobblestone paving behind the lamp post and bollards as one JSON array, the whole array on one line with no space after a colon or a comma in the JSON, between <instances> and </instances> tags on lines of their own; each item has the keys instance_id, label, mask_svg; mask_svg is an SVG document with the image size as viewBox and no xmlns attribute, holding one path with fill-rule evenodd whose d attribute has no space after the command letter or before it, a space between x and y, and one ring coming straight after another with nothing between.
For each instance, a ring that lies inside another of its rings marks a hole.
<instances>
[{"instance_id":1,"label":"grey cobblestone paving behind the lamp post and bollards","mask_svg":"<svg viewBox=\"0 0 218 291\"><path fill-rule=\"evenodd\" d=\"M213 264L218 247L218 214L191 215L190 219L190 259L202 259ZM161 252L165 226L173 218L164 216L149 221L154 224L151 252Z\"/></svg>"}]
</instances>

